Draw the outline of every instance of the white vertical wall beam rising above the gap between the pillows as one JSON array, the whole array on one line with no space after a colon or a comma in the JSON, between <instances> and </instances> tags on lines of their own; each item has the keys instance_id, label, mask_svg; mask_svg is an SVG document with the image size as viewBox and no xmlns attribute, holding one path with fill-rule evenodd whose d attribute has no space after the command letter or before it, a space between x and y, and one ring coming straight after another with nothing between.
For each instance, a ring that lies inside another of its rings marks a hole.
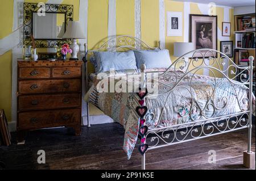
<instances>
[{"instance_id":1,"label":"white vertical wall beam rising above the gap between the pillows","mask_svg":"<svg viewBox=\"0 0 256 181\"><path fill-rule=\"evenodd\" d=\"M135 37L141 40L141 0L134 0L135 1ZM141 48L141 45L137 45L137 48Z\"/></svg>"}]
</instances>

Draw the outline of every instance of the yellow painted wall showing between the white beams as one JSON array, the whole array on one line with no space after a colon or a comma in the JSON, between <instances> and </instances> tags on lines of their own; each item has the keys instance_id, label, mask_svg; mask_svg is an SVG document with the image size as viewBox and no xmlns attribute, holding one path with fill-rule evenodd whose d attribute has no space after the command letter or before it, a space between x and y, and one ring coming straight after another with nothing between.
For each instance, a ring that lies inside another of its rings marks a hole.
<instances>
[{"instance_id":1,"label":"yellow painted wall showing between the white beams","mask_svg":"<svg viewBox=\"0 0 256 181\"><path fill-rule=\"evenodd\" d=\"M47 0L25 0L25 2L47 2ZM63 4L74 6L74 20L79 20L79 0L63 0ZM170 0L164 0L165 14L167 11L180 11L184 15L184 3ZM108 37L108 0L88 0L88 48L96 49L107 40ZM158 47L159 41L159 1L142 0L141 1L141 38L151 47ZM201 14L196 3L191 3L190 14ZM117 0L117 35L131 35L135 33L135 12L134 0ZM221 29L221 23L224 19L224 10L222 7L216 9L218 15L218 27ZM5 1L0 6L0 15L5 17L1 24L5 28L0 28L0 39L10 35L13 29L13 0ZM229 11L230 22L233 27L233 9ZM166 19L167 20L167 19ZM184 22L183 22L184 23ZM166 26L167 28L167 26ZM183 28L184 30L184 28ZM233 40L233 30L232 37ZM170 50L172 61L174 42L184 41L184 37L167 37L166 48ZM218 49L220 41L218 40ZM45 52L46 49L38 49L38 52ZM0 56L0 108L4 108L7 118L11 120L11 50ZM203 73L203 71L200 71Z\"/></svg>"}]
</instances>

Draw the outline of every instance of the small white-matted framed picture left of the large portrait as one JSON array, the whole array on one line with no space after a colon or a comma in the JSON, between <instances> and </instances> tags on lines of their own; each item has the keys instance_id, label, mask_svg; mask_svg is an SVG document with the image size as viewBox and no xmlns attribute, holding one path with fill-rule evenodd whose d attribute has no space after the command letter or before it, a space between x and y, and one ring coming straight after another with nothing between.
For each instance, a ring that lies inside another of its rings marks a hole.
<instances>
[{"instance_id":1,"label":"small white-matted framed picture left of the large portrait","mask_svg":"<svg viewBox=\"0 0 256 181\"><path fill-rule=\"evenodd\" d=\"M183 36L182 12L167 12L167 36Z\"/></svg>"}]
</instances>

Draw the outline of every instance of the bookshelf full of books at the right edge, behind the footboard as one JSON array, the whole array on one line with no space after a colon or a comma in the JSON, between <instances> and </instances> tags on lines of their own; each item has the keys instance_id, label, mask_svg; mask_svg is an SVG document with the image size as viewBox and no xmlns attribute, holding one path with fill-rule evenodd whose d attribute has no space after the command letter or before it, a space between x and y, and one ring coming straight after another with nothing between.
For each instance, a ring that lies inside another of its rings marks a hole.
<instances>
[{"instance_id":1,"label":"bookshelf full of books at the right edge, behind the footboard","mask_svg":"<svg viewBox=\"0 0 256 181\"><path fill-rule=\"evenodd\" d=\"M254 56L253 92L255 95L255 13L235 15L234 22L234 61L237 65L247 66L249 56ZM239 78L237 81L240 81Z\"/></svg>"}]
</instances>

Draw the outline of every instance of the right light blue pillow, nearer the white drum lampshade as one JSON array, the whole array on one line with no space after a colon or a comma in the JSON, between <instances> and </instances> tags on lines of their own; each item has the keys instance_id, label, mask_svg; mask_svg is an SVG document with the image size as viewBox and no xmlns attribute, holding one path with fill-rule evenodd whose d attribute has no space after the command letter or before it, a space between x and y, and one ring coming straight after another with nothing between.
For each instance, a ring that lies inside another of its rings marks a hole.
<instances>
[{"instance_id":1,"label":"right light blue pillow, nearer the white drum lampshade","mask_svg":"<svg viewBox=\"0 0 256 181\"><path fill-rule=\"evenodd\" d=\"M169 50L134 50L137 67L145 64L147 69L168 68L171 65Z\"/></svg>"}]
</instances>

